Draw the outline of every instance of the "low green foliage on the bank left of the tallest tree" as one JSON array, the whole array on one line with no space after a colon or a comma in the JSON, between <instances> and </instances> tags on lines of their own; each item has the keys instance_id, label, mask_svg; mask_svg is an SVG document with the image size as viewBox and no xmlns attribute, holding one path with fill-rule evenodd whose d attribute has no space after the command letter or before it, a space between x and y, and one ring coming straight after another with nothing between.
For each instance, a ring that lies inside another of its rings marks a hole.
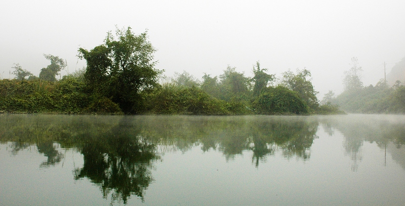
<instances>
[{"instance_id":1,"label":"low green foliage on the bank left of the tallest tree","mask_svg":"<svg viewBox=\"0 0 405 206\"><path fill-rule=\"evenodd\" d=\"M0 80L0 110L17 113L122 113L111 99L89 95L83 79L71 75L57 82Z\"/></svg>"}]
</instances>

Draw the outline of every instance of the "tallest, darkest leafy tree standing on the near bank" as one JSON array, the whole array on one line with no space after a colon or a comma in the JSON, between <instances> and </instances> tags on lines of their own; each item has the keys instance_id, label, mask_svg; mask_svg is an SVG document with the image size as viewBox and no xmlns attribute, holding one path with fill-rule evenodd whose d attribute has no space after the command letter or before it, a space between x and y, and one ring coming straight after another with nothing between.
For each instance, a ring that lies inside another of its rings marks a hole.
<instances>
[{"instance_id":1,"label":"tallest, darkest leafy tree standing on the near bank","mask_svg":"<svg viewBox=\"0 0 405 206\"><path fill-rule=\"evenodd\" d=\"M158 85L163 71L154 68L155 48L147 32L135 35L131 27L107 33L104 44L88 51L79 48L79 58L87 61L85 79L94 93L111 98L125 113L139 113L141 92Z\"/></svg>"}]
</instances>

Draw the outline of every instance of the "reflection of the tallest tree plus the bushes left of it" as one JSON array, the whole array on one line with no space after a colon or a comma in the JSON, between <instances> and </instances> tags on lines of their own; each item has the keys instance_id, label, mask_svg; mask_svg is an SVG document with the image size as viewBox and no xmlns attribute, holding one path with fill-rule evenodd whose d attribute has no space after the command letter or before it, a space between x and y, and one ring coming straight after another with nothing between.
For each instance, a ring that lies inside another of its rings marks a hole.
<instances>
[{"instance_id":1,"label":"reflection of the tallest tree plus the bushes left of it","mask_svg":"<svg viewBox=\"0 0 405 206\"><path fill-rule=\"evenodd\" d=\"M0 118L0 142L11 144L13 155L36 145L47 157L39 167L58 164L64 156L56 146L74 148L83 154L83 168L74 178L88 178L99 185L103 197L111 193L111 203L127 203L131 195L143 201L145 189L153 181L152 162L159 159L156 145L139 134L131 117L7 115Z\"/></svg>"}]
</instances>

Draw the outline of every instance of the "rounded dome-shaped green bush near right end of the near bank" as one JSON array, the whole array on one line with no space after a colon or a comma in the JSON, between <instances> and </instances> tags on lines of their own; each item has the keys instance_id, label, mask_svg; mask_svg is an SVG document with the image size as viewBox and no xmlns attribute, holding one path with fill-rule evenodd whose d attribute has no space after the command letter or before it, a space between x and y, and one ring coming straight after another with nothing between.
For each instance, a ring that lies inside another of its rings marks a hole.
<instances>
[{"instance_id":1,"label":"rounded dome-shaped green bush near right end of the near bank","mask_svg":"<svg viewBox=\"0 0 405 206\"><path fill-rule=\"evenodd\" d=\"M308 106L299 94L283 86L263 90L253 106L257 114L263 115L308 114Z\"/></svg>"}]
</instances>

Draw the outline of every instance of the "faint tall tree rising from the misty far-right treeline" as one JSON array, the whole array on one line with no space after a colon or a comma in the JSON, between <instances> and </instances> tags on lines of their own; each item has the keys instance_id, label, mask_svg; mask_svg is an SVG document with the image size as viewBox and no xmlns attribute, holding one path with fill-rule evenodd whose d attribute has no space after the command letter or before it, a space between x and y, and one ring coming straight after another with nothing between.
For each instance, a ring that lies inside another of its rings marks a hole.
<instances>
[{"instance_id":1,"label":"faint tall tree rising from the misty far-right treeline","mask_svg":"<svg viewBox=\"0 0 405 206\"><path fill-rule=\"evenodd\" d=\"M361 82L361 72L363 71L361 67L358 66L357 57L351 58L352 67L345 71L345 77L343 79L343 84L345 86L345 91L356 91L363 88L363 82Z\"/></svg>"}]
</instances>

